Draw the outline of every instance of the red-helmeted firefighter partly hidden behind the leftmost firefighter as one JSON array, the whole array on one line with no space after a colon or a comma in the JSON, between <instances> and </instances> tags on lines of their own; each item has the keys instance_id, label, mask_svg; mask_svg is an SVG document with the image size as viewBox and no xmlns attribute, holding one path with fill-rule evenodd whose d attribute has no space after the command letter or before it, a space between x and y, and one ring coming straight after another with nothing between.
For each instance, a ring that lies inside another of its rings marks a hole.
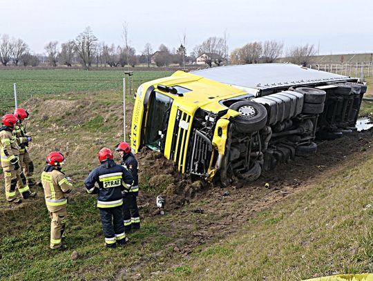
<instances>
[{"instance_id":1,"label":"red-helmeted firefighter partly hidden behind the leftmost firefighter","mask_svg":"<svg viewBox=\"0 0 373 281\"><path fill-rule=\"evenodd\" d=\"M26 181L28 187L35 186L34 180L32 180L32 175L34 173L34 163L30 159L30 154L28 153L28 143L31 142L32 137L26 135L26 128L23 126L22 122L24 119L27 119L29 114L23 108L16 108L15 113L18 122L13 130L13 135L17 137L19 144L19 164L23 170L23 173L26 176Z\"/></svg>"}]
</instances>

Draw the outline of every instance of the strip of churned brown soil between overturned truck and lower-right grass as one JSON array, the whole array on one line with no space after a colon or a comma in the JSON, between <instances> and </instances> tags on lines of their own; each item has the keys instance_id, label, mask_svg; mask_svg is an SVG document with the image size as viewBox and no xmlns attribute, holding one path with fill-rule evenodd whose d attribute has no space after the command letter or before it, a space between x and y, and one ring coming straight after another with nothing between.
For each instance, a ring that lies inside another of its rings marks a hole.
<instances>
[{"instance_id":1,"label":"strip of churned brown soil between overturned truck and lower-right grass","mask_svg":"<svg viewBox=\"0 0 373 281\"><path fill-rule=\"evenodd\" d=\"M202 244L236 232L256 213L270 209L289 195L304 191L309 184L327 177L362 152L372 153L372 136L373 130L367 130L334 141L319 142L315 155L296 157L262 175L256 182L235 179L229 188L205 188L187 200L191 203L187 208L168 210L169 217L159 220L163 234L173 238L173 242L164 245L162 251L120 270L115 280L151 279L156 272L144 273L144 276L139 272L144 272L141 269L146 265L157 263L158 258L166 260L161 264L166 270L175 266L172 263L174 255L187 256ZM269 188L265 188L266 183L269 183Z\"/></svg>"}]
</instances>

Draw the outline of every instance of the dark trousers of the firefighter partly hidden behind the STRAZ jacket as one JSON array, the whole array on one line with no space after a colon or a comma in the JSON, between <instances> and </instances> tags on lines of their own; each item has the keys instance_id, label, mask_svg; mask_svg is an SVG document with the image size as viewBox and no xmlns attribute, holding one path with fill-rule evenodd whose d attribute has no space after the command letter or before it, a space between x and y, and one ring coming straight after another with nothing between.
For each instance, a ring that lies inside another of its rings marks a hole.
<instances>
[{"instance_id":1,"label":"dark trousers of the firefighter partly hidden behind the STRAZ jacket","mask_svg":"<svg viewBox=\"0 0 373 281\"><path fill-rule=\"evenodd\" d=\"M140 229L140 214L137 207L137 192L128 192L123 197L124 232Z\"/></svg>"}]
</instances>

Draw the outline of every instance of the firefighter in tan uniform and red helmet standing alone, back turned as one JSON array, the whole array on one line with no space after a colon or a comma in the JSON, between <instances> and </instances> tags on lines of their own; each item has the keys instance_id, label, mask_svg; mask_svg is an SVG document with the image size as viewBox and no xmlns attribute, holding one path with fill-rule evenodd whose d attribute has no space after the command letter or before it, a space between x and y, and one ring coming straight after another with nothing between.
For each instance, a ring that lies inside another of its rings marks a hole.
<instances>
[{"instance_id":1,"label":"firefighter in tan uniform and red helmet standing alone, back turned","mask_svg":"<svg viewBox=\"0 0 373 281\"><path fill-rule=\"evenodd\" d=\"M46 167L41 173L41 184L50 216L50 249L58 250L67 248L62 240L66 229L67 196L73 189L73 184L61 171L64 163L64 155L53 151L46 157Z\"/></svg>"}]
</instances>

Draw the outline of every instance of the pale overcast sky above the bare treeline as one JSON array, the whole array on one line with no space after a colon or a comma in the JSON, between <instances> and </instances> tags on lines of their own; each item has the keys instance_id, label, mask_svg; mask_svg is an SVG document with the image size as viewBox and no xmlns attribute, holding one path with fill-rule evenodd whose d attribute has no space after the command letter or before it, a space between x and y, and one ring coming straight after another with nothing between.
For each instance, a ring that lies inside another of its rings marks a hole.
<instances>
[{"instance_id":1,"label":"pale overcast sky above the bare treeline","mask_svg":"<svg viewBox=\"0 0 373 281\"><path fill-rule=\"evenodd\" d=\"M146 43L170 49L187 36L187 52L227 33L229 52L252 41L314 44L320 55L373 52L371 0L0 0L0 35L21 38L33 52L49 41L75 39L87 26L99 41L137 53Z\"/></svg>"}]
</instances>

